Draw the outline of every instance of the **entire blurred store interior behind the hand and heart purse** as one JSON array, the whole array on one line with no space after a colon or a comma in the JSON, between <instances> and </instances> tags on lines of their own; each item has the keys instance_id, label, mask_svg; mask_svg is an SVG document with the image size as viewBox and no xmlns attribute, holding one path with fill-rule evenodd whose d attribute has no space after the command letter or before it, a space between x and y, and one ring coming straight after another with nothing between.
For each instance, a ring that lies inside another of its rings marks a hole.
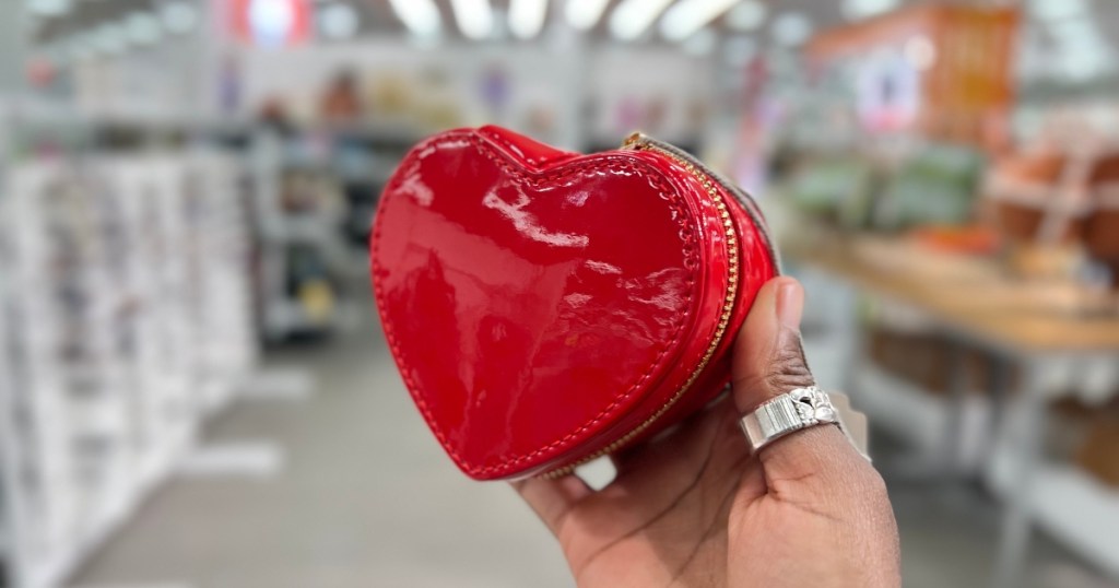
<instances>
[{"instance_id":1,"label":"entire blurred store interior behind the hand and heart purse","mask_svg":"<svg viewBox=\"0 0 1119 588\"><path fill-rule=\"evenodd\" d=\"M2 586L571 586L369 292L399 158L485 123L759 199L905 586L1119 586L1119 2L0 3Z\"/></svg>"}]
</instances>

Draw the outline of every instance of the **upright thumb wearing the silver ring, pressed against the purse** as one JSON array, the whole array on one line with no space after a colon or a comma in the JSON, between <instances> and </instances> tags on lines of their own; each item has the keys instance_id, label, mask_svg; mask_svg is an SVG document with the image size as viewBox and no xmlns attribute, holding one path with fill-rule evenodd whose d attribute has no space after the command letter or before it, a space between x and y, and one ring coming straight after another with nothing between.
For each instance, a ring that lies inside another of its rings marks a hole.
<instances>
[{"instance_id":1,"label":"upright thumb wearing the silver ring, pressed against the purse","mask_svg":"<svg viewBox=\"0 0 1119 588\"><path fill-rule=\"evenodd\" d=\"M803 304L805 290L792 278L771 280L758 292L734 347L733 396L740 413L815 383L800 343ZM852 457L858 458L858 454L839 429L830 426L788 435L759 454L771 482L818 479L849 467Z\"/></svg>"}]
</instances>

